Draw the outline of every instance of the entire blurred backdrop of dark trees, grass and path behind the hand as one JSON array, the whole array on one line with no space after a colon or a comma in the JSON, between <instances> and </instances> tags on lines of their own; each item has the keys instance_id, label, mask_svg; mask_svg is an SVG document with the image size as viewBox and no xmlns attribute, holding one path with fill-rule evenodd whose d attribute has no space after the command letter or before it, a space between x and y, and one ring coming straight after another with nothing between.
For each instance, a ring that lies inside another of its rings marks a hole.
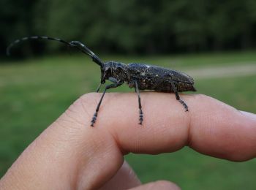
<instances>
[{"instance_id":1,"label":"entire blurred backdrop of dark trees, grass and path behind the hand","mask_svg":"<svg viewBox=\"0 0 256 190\"><path fill-rule=\"evenodd\" d=\"M48 35L80 40L104 61L182 70L200 94L256 113L256 1L0 1L0 177L75 99L95 91L99 67L58 42L13 40ZM34 55L41 55L35 57ZM121 86L111 91L133 91ZM233 163L189 148L126 156L146 183L183 189L256 189L256 160Z\"/></svg>"}]
</instances>

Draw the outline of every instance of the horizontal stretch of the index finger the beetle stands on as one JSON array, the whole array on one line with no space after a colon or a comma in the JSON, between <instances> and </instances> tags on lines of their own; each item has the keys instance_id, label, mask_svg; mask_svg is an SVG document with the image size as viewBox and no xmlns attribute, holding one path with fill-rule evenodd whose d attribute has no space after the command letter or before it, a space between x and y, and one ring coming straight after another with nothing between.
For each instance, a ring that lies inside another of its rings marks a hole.
<instances>
[{"instance_id":1,"label":"horizontal stretch of the index finger the beetle stands on","mask_svg":"<svg viewBox=\"0 0 256 190\"><path fill-rule=\"evenodd\" d=\"M93 113L99 94L89 94ZM88 104L88 95L82 99ZM113 134L121 151L163 153L188 145L200 153L244 161L256 156L256 115L244 113L209 96L183 95L189 112L174 95L143 93L143 126L138 125L136 94L108 94L95 127ZM88 109L89 110L89 109ZM89 125L89 114L85 123Z\"/></svg>"}]
</instances>

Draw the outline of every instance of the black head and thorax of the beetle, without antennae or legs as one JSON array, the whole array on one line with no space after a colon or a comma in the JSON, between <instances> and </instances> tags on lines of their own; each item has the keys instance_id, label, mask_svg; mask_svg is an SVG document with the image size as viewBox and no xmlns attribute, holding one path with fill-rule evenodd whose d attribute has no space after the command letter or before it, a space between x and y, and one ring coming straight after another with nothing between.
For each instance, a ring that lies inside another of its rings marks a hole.
<instances>
[{"instance_id":1,"label":"black head and thorax of the beetle, without antennae or legs","mask_svg":"<svg viewBox=\"0 0 256 190\"><path fill-rule=\"evenodd\" d=\"M104 79L113 77L118 81L127 81L127 65L120 62L109 61L104 64Z\"/></svg>"}]
</instances>

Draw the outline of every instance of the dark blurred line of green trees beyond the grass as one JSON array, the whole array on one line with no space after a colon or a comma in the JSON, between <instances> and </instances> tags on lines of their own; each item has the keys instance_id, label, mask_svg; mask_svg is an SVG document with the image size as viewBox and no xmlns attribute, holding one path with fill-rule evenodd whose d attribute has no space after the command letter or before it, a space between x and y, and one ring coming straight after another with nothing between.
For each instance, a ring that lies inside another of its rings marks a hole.
<instances>
[{"instance_id":1,"label":"dark blurred line of green trees beyond the grass","mask_svg":"<svg viewBox=\"0 0 256 190\"><path fill-rule=\"evenodd\" d=\"M255 0L1 0L0 50L48 35L110 53L177 53L256 47ZM31 48L25 48L25 47ZM63 45L28 42L19 53Z\"/></svg>"}]
</instances>

